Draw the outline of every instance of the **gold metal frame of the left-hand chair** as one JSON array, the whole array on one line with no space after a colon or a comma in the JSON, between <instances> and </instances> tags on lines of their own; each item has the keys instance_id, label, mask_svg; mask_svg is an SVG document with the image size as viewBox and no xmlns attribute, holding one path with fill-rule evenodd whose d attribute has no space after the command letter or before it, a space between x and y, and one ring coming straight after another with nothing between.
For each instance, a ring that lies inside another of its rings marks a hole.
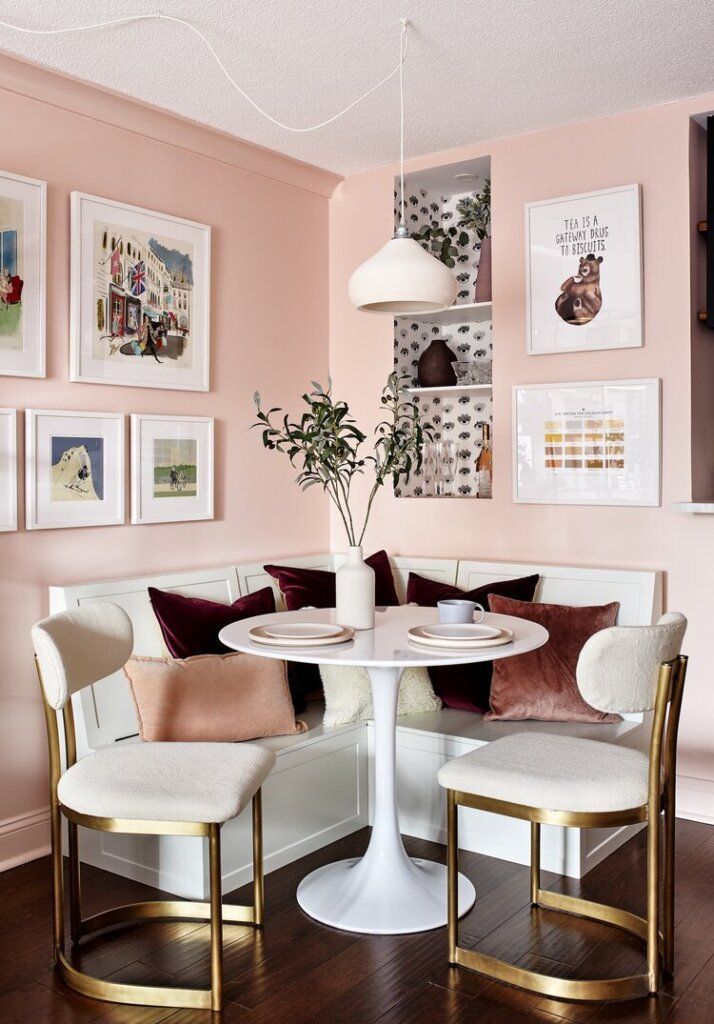
<instances>
[{"instance_id":1,"label":"gold metal frame of the left-hand chair","mask_svg":"<svg viewBox=\"0 0 714 1024\"><path fill-rule=\"evenodd\" d=\"M62 774L61 748L57 711L45 698L42 673L35 658L42 702L47 724L49 743L50 778L50 826L52 857L52 926L54 963L70 988L92 999L130 1006L174 1007L181 1009L219 1011L223 998L223 922L228 924L263 925L263 847L262 847L262 799L258 790L253 797L253 904L237 906L223 904L220 877L220 824L207 821L150 821L134 818L97 817L79 814L70 807L64 807L57 798L57 783ZM72 697L61 709L65 733L65 754L67 767L77 762L77 738L72 710ZM168 988L162 985L133 985L122 982L104 981L78 971L65 953L65 880L61 844L61 819L68 819L68 852L70 867L70 933L73 944L78 944L84 935L98 932L115 925L132 922L179 920L208 921L211 926L211 987L210 988ZM99 831L124 833L142 836L205 836L209 848L209 900L150 900L143 903L128 903L113 907L91 918L82 918L79 846L77 826L95 828Z\"/></svg>"}]
</instances>

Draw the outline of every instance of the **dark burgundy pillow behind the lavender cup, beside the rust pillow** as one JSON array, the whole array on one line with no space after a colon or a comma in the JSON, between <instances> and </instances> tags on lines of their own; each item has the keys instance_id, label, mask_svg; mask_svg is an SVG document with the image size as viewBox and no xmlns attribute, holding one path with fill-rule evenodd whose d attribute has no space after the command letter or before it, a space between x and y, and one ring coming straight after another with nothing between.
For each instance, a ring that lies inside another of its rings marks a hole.
<instances>
[{"instance_id":1,"label":"dark burgundy pillow behind the lavender cup, beside the rust pillow","mask_svg":"<svg viewBox=\"0 0 714 1024\"><path fill-rule=\"evenodd\" d=\"M520 577L518 580L500 580L498 583L464 591L447 583L426 580L416 572L409 573L407 581L407 601L424 606L435 606L437 601L460 598L476 601L487 611L493 611L490 594L504 594L519 601L532 601L540 577ZM475 665L443 666L429 669L429 678L435 692L446 708L459 711L487 712L491 691L493 662L478 662Z\"/></svg>"}]
</instances>

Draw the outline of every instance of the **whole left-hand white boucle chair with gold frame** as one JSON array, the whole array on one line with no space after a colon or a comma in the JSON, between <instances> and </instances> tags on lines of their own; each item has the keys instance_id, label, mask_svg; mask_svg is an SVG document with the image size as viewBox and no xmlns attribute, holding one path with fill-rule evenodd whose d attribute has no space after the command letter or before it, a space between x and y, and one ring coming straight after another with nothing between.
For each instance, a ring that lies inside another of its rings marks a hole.
<instances>
[{"instance_id":1,"label":"whole left-hand white boucle chair with gold frame","mask_svg":"<svg viewBox=\"0 0 714 1024\"><path fill-rule=\"evenodd\" d=\"M263 866L260 786L276 757L249 743L123 743L77 761L72 694L124 667L133 636L127 613L100 601L64 611L32 629L42 688L50 764L54 961L67 984L97 999L220 1010L222 921L262 926ZM62 773L57 712L62 714ZM253 905L222 905L220 826L253 802ZM78 971L65 954L61 816L68 819L72 940L129 921L177 918L211 923L211 987L127 985ZM205 836L210 900L158 900L115 907L82 920L77 826L150 836Z\"/></svg>"}]
</instances>

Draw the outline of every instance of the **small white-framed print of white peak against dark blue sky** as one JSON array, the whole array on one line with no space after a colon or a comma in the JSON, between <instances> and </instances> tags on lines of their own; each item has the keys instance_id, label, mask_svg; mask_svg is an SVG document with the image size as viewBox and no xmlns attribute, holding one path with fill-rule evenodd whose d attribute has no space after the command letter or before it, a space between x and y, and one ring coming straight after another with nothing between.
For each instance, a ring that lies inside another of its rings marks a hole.
<instances>
[{"instance_id":1,"label":"small white-framed print of white peak against dark blue sky","mask_svg":"<svg viewBox=\"0 0 714 1024\"><path fill-rule=\"evenodd\" d=\"M124 515L121 413L25 414L26 526L114 526Z\"/></svg>"}]
</instances>

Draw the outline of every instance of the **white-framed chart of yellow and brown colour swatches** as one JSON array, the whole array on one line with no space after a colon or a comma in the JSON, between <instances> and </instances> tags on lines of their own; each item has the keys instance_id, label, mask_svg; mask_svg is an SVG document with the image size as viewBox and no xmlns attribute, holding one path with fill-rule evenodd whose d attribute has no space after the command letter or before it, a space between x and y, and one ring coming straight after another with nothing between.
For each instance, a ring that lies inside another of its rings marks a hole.
<instances>
[{"instance_id":1,"label":"white-framed chart of yellow and brown colour swatches","mask_svg":"<svg viewBox=\"0 0 714 1024\"><path fill-rule=\"evenodd\" d=\"M660 505L660 393L654 380L513 388L513 500Z\"/></svg>"}]
</instances>

